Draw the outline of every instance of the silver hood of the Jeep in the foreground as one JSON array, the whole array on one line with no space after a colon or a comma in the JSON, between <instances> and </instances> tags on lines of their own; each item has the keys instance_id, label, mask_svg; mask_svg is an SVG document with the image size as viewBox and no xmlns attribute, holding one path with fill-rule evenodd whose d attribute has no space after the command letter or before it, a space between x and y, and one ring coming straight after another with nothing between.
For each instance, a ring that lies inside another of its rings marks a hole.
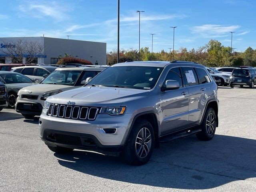
<instances>
[{"instance_id":1,"label":"silver hood of the Jeep in the foreground","mask_svg":"<svg viewBox=\"0 0 256 192\"><path fill-rule=\"evenodd\" d=\"M114 88L114 87L81 87L50 96L51 103L67 104L75 102L80 106L120 106L123 102L146 97L149 90Z\"/></svg>"}]
</instances>

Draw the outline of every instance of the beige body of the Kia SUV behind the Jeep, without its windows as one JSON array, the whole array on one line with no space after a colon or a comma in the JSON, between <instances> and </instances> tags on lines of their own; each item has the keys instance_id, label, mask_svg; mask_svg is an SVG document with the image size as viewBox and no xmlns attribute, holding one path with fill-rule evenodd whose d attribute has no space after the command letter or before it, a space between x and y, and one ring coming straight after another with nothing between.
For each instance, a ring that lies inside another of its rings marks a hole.
<instances>
[{"instance_id":1,"label":"beige body of the Kia SUV behind the Jeep, without its windows","mask_svg":"<svg viewBox=\"0 0 256 192\"><path fill-rule=\"evenodd\" d=\"M85 73L86 71L101 72L102 70L104 70L104 68L66 67L66 68L56 69L56 71L81 71L80 76L82 75L83 71ZM80 77L78 77L78 79L79 78ZM21 89L18 92L18 98L15 105L15 109L17 112L20 112L22 114L27 114L27 115L40 115L42 112L42 106L44 106L44 100L41 99L44 93L56 91L56 90L60 90L64 92L66 90L71 90L71 89L80 87L80 86L77 86L78 82L76 82L74 86L63 85L63 84L43 84L43 82L37 85L26 87L24 89ZM23 98L22 95L26 95L27 97ZM24 104L27 105L28 107L29 105L34 105L34 109L33 108L22 109L21 107L17 107L19 105L23 105L24 107Z\"/></svg>"}]
</instances>

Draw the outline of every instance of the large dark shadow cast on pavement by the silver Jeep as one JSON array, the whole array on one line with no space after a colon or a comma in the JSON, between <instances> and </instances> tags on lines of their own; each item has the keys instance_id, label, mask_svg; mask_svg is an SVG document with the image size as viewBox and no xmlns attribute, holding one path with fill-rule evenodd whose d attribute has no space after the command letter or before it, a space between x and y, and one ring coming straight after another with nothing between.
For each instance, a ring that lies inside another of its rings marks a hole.
<instances>
[{"instance_id":1,"label":"large dark shadow cast on pavement by the silver Jeep","mask_svg":"<svg viewBox=\"0 0 256 192\"><path fill-rule=\"evenodd\" d=\"M121 158L75 150L54 154L60 165L100 178L180 189L209 189L256 177L256 140L215 135L195 136L160 145L150 162L130 166Z\"/></svg>"}]
</instances>

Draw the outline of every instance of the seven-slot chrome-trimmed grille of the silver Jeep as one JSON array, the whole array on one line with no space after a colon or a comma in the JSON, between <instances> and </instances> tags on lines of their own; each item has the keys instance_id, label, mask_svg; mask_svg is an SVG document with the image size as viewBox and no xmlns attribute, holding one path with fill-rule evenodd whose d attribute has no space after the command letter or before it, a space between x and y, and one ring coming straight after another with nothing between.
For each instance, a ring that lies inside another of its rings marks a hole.
<instances>
[{"instance_id":1,"label":"seven-slot chrome-trimmed grille of the silver Jeep","mask_svg":"<svg viewBox=\"0 0 256 192\"><path fill-rule=\"evenodd\" d=\"M97 107L50 104L47 115L65 119L95 120L98 111Z\"/></svg>"}]
</instances>

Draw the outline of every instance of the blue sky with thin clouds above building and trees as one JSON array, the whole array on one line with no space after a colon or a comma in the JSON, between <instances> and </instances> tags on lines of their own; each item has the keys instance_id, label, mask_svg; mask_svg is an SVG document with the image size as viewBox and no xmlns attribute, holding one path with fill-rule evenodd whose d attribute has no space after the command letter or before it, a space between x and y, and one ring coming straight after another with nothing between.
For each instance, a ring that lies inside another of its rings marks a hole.
<instances>
[{"instance_id":1,"label":"blue sky with thin clouds above building and trees","mask_svg":"<svg viewBox=\"0 0 256 192\"><path fill-rule=\"evenodd\" d=\"M117 0L0 0L0 37L47 36L107 43L117 48ZM175 49L203 46L210 39L244 51L256 49L254 0L120 0L120 48L138 49L138 13L141 43L154 51L169 51L175 29Z\"/></svg>"}]
</instances>

